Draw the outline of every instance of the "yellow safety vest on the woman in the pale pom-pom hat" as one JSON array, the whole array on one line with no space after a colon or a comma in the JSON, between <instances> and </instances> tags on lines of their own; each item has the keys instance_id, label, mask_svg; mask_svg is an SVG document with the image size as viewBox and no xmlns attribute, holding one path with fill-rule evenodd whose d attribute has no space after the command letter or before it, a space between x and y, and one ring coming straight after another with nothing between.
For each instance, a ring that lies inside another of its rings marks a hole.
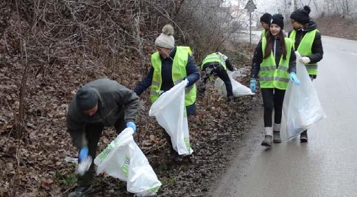
<instances>
[{"instance_id":1,"label":"yellow safety vest on the woman in the pale pom-pom hat","mask_svg":"<svg viewBox=\"0 0 357 197\"><path fill-rule=\"evenodd\" d=\"M175 57L173 58L172 79L174 85L180 83L186 76L186 65L188 61L188 47L177 46ZM191 50L190 50L191 51ZM151 65L153 65L153 81L151 82L150 100L155 102L161 94L161 59L159 52L151 55ZM196 101L196 85L193 84L185 89L185 105L192 105Z\"/></svg>"}]
</instances>

